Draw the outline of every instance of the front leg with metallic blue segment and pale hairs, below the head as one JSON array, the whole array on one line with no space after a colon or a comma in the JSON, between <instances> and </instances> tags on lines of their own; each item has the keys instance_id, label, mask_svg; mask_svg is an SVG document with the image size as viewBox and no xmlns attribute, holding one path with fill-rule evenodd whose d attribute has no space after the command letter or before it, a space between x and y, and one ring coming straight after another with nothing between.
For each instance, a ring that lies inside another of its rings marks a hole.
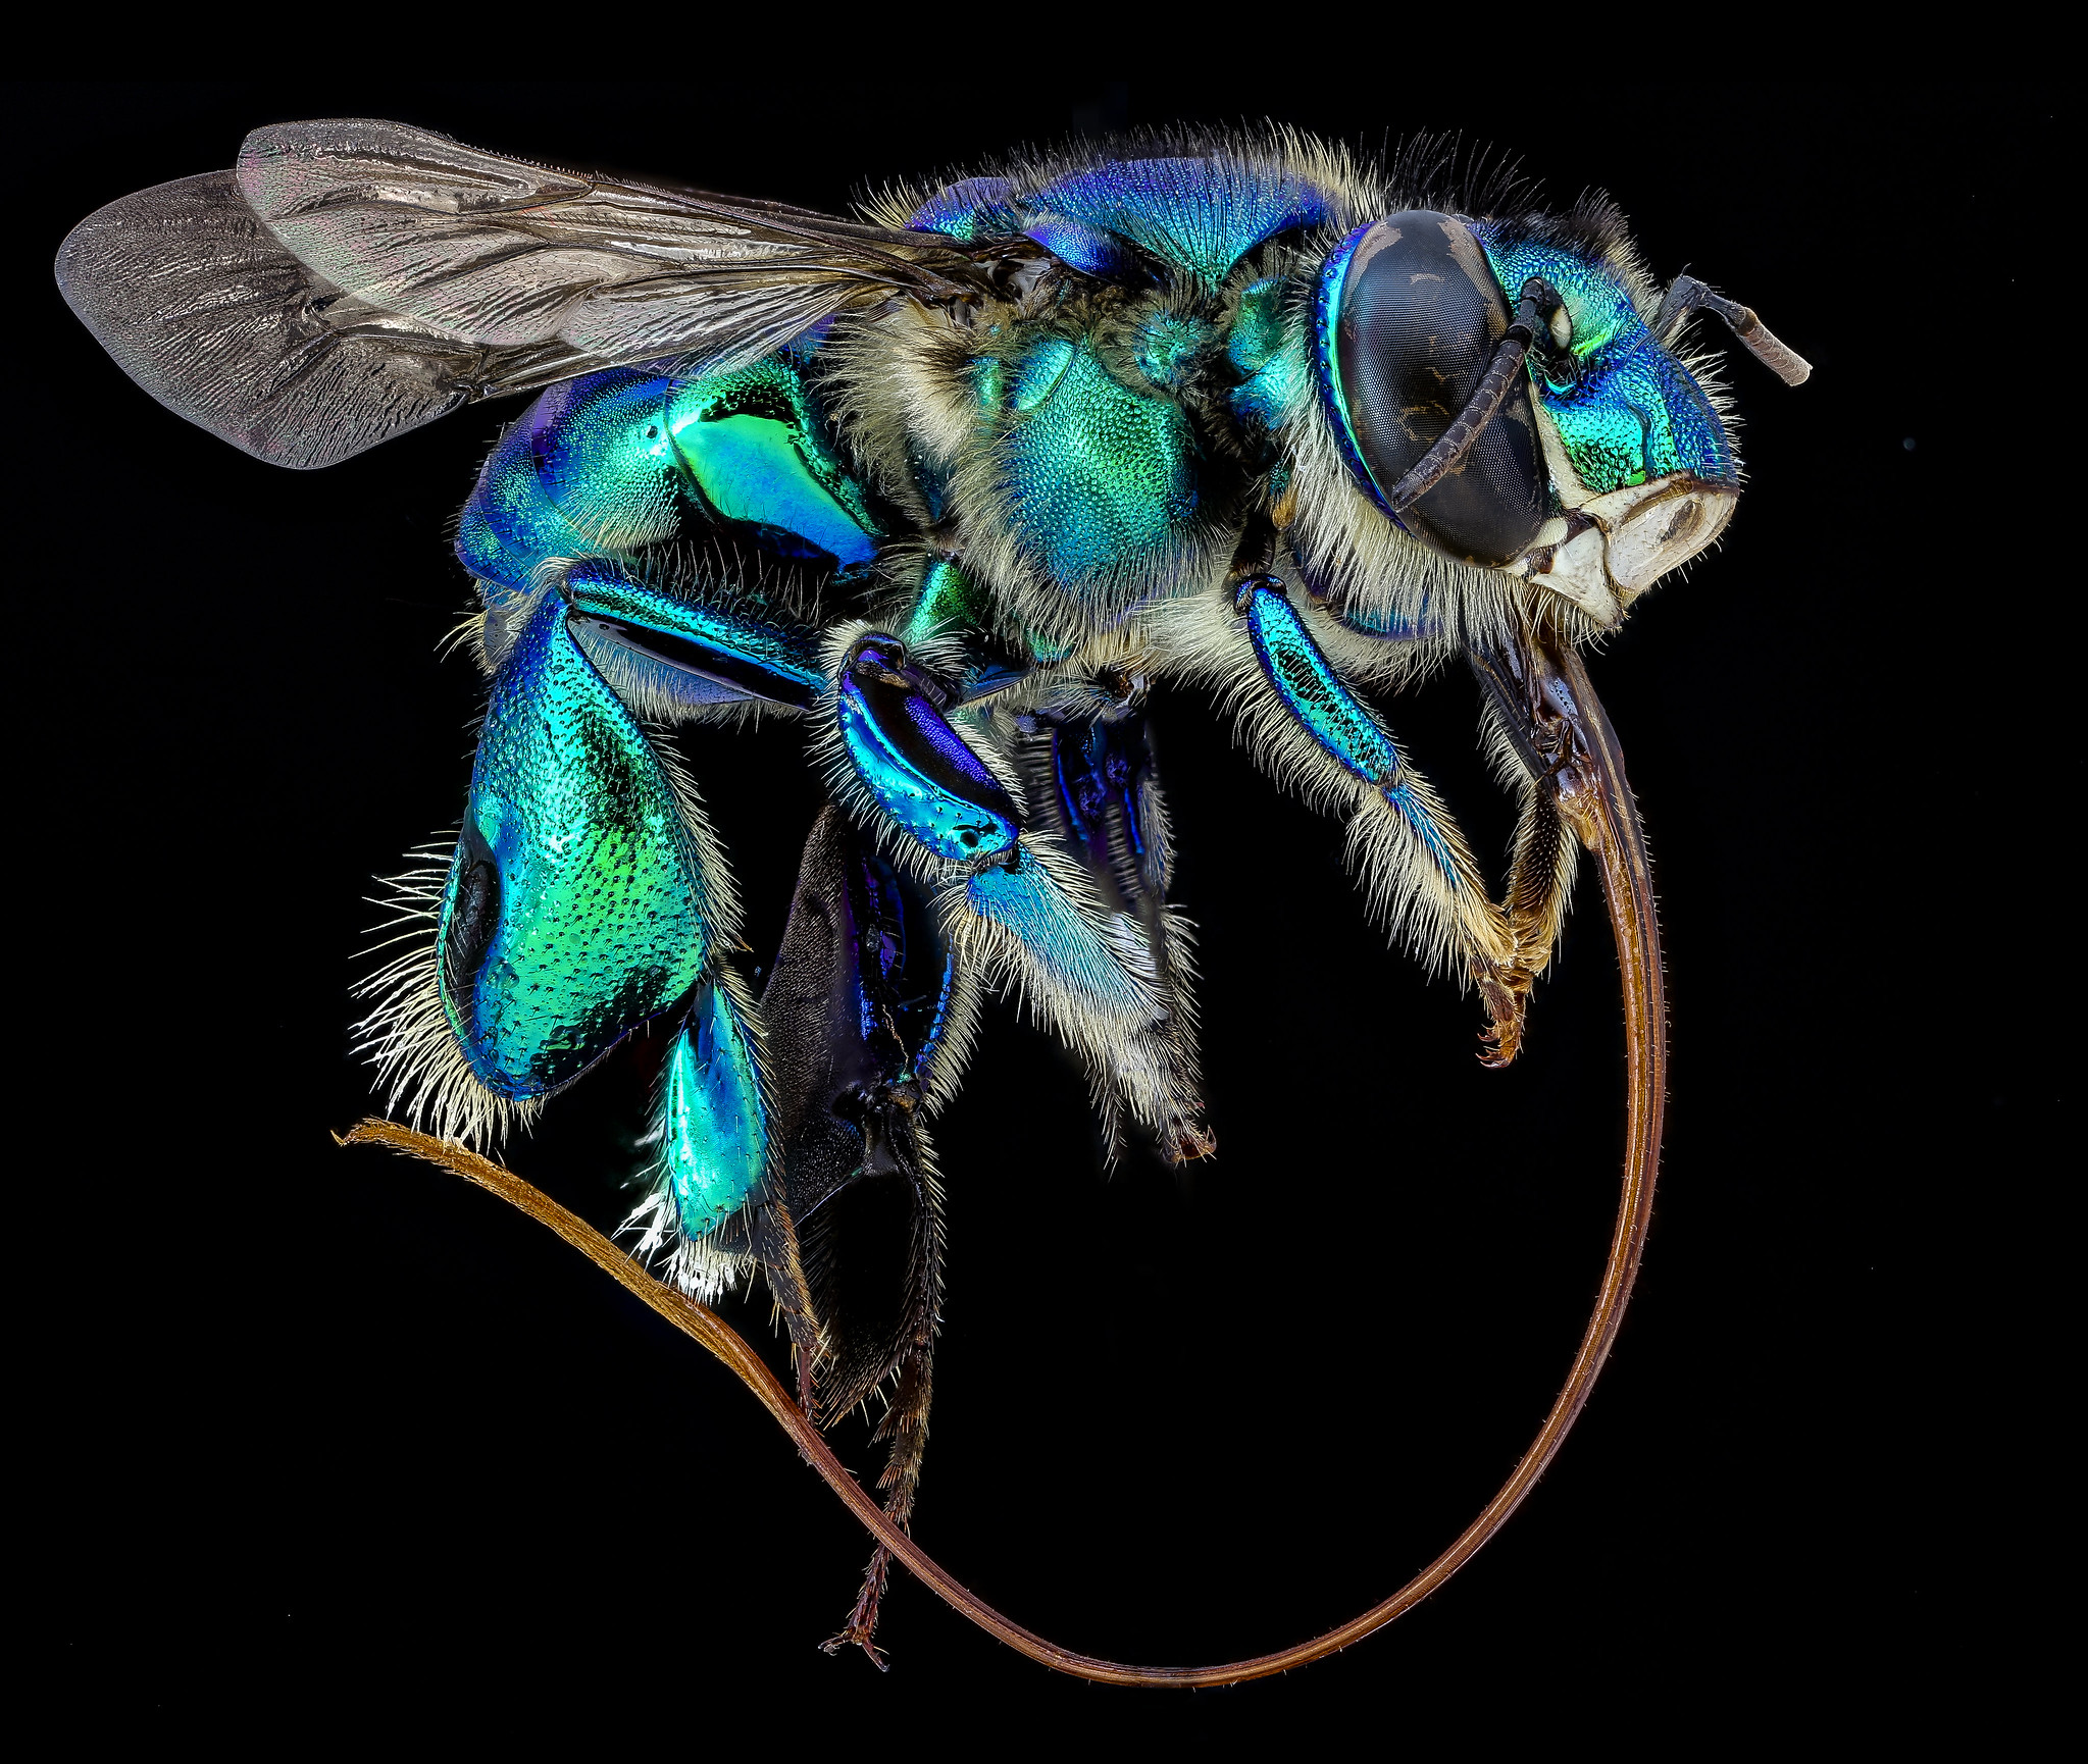
<instances>
[{"instance_id":1,"label":"front leg with metallic blue segment and pale hairs, below the head","mask_svg":"<svg viewBox=\"0 0 2088 1764\"><path fill-rule=\"evenodd\" d=\"M1457 823L1313 639L1274 574L1184 603L1176 655L1230 697L1255 762L1347 814L1349 860L1372 916L1430 967L1472 979L1495 1025L1520 1010L1516 939Z\"/></svg>"}]
</instances>

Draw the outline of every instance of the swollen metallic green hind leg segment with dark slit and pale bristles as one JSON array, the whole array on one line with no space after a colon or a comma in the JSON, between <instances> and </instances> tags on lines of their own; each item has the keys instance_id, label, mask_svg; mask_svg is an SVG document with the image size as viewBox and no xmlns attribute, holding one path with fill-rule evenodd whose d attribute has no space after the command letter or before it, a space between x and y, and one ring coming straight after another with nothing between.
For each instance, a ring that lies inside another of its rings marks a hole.
<instances>
[{"instance_id":1,"label":"swollen metallic green hind leg segment with dark slit and pale bristles","mask_svg":"<svg viewBox=\"0 0 2088 1764\"><path fill-rule=\"evenodd\" d=\"M685 1010L735 935L693 787L570 622L549 585L518 614L447 873L399 893L432 937L365 987L390 1100L445 1136L489 1136Z\"/></svg>"}]
</instances>

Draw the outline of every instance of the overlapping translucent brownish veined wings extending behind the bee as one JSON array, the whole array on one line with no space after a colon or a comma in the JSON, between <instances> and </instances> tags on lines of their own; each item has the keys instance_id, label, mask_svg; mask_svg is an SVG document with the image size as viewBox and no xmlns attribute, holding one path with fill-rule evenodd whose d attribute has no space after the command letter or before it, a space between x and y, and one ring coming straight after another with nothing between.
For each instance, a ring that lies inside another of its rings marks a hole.
<instances>
[{"instance_id":1,"label":"overlapping translucent brownish veined wings extending behind the bee","mask_svg":"<svg viewBox=\"0 0 2088 1764\"><path fill-rule=\"evenodd\" d=\"M380 121L257 129L234 171L111 202L58 251L132 378L296 468L597 367L752 361L839 311L963 292L942 269L963 259L917 234Z\"/></svg>"}]
</instances>

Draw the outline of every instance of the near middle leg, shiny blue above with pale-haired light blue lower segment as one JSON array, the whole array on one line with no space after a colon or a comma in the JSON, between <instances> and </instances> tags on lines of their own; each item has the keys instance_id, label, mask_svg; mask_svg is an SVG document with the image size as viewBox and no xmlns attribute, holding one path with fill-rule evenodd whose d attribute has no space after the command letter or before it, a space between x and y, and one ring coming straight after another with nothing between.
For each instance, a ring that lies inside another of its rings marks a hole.
<instances>
[{"instance_id":1,"label":"near middle leg, shiny blue above with pale-haired light blue lower segment","mask_svg":"<svg viewBox=\"0 0 2088 1764\"><path fill-rule=\"evenodd\" d=\"M1134 1117L1165 1134L1176 1115L1165 1063L1123 1058L1171 1033L1153 950L1025 806L1009 720L954 704L889 633L841 626L829 660L818 716L837 802L935 889L967 971L1027 1004L1090 1071L1109 1073Z\"/></svg>"}]
</instances>

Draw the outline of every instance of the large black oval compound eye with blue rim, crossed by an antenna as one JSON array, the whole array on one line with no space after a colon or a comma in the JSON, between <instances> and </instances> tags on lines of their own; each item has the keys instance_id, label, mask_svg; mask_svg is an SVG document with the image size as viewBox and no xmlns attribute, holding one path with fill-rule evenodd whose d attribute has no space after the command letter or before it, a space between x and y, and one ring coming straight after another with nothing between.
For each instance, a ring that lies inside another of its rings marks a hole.
<instances>
[{"instance_id":1,"label":"large black oval compound eye with blue rim, crossed by an antenna","mask_svg":"<svg viewBox=\"0 0 2088 1764\"><path fill-rule=\"evenodd\" d=\"M1472 230L1409 209L1353 236L1320 288L1320 378L1382 503L1455 422L1514 317ZM1470 564L1508 564L1549 514L1522 376L1464 463L1401 518Z\"/></svg>"}]
</instances>

